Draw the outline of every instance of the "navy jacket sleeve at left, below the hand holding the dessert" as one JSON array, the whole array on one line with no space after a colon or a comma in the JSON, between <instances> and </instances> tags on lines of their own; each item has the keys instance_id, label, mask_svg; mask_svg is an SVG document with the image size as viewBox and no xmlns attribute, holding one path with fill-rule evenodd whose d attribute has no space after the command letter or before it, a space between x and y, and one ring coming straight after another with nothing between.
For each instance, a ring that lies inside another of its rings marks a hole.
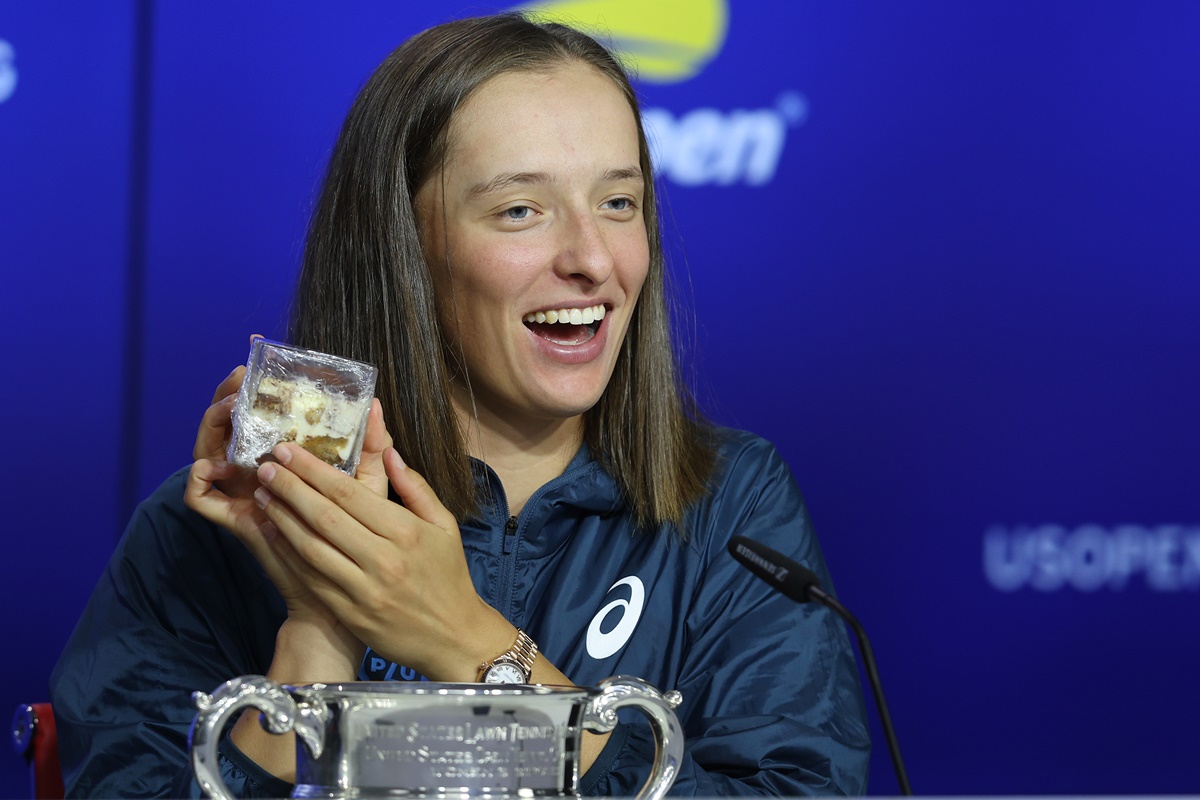
<instances>
[{"instance_id":1,"label":"navy jacket sleeve at left, below the hand holding the dessert","mask_svg":"<svg viewBox=\"0 0 1200 800\"><path fill-rule=\"evenodd\" d=\"M50 675L67 796L191 794L192 692L270 664L282 600L232 534L184 505L185 480L138 507ZM230 790L253 794L222 760Z\"/></svg>"}]
</instances>

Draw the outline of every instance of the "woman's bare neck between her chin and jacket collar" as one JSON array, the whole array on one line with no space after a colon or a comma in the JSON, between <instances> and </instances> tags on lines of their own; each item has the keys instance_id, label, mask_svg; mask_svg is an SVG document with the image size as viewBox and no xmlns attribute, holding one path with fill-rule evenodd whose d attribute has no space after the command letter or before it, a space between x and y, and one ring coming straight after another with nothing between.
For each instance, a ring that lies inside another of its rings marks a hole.
<instances>
[{"instance_id":1,"label":"woman's bare neck between her chin and jacket collar","mask_svg":"<svg viewBox=\"0 0 1200 800\"><path fill-rule=\"evenodd\" d=\"M558 477L583 444L583 417L524 419L514 422L455 402L467 452L486 463L500 479L509 513L521 513L539 488Z\"/></svg>"}]
</instances>

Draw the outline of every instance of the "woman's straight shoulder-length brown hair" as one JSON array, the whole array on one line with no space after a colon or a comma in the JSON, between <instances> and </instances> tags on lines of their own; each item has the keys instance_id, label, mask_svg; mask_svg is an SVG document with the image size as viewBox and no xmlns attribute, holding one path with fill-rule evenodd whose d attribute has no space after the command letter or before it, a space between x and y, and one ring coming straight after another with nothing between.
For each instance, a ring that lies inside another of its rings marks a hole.
<instances>
[{"instance_id":1,"label":"woman's straight shoulder-length brown hair","mask_svg":"<svg viewBox=\"0 0 1200 800\"><path fill-rule=\"evenodd\" d=\"M637 97L612 54L580 31L512 13L462 19L418 34L379 66L350 108L330 160L289 337L377 365L377 396L397 450L460 521L476 513L414 198L440 168L454 113L476 88L504 72L570 61L608 77L634 110L650 246L641 299L612 379L584 415L584 439L640 524L679 524L713 471L712 432L679 380Z\"/></svg>"}]
</instances>

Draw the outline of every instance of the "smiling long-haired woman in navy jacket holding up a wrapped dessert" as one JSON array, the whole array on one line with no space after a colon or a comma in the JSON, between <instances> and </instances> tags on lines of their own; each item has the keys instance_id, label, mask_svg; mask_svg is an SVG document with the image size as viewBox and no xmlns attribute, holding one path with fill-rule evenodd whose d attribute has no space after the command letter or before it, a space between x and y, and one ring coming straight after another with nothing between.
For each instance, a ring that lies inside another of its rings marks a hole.
<instances>
[{"instance_id":1,"label":"smiling long-haired woman in navy jacket holding up a wrapped dessert","mask_svg":"<svg viewBox=\"0 0 1200 800\"><path fill-rule=\"evenodd\" d=\"M679 385L650 175L628 78L569 28L449 23L380 66L335 149L290 336L379 368L358 474L289 444L227 463L241 368L217 387L194 462L139 507L55 670L70 792L197 792L188 696L253 673L635 675L683 693L676 793L864 789L840 622L726 557L750 536L829 584L774 449ZM283 796L295 744L257 717L222 770ZM588 733L577 788L629 794L653 757L644 726Z\"/></svg>"}]
</instances>

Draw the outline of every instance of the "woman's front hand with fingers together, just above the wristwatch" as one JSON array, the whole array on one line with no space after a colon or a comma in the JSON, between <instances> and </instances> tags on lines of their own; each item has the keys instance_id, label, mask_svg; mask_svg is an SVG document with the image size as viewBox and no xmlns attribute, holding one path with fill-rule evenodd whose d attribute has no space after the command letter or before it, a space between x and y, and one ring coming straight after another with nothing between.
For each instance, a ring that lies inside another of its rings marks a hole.
<instances>
[{"instance_id":1,"label":"woman's front hand with fingers together, just above the wristwatch","mask_svg":"<svg viewBox=\"0 0 1200 800\"><path fill-rule=\"evenodd\" d=\"M512 625L475 591L457 521L395 449L383 463L403 505L296 445L274 456L258 468L263 511L290 569L359 639L440 681L474 681L508 649Z\"/></svg>"}]
</instances>

